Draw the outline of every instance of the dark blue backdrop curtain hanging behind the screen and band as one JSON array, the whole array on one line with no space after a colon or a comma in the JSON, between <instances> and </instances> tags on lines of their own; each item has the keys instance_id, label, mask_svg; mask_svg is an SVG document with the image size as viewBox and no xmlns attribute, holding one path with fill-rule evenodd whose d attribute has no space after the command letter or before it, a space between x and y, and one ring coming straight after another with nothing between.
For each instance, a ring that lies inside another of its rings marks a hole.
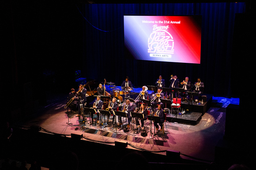
<instances>
[{"instance_id":1,"label":"dark blue backdrop curtain hanging behind the screen and band","mask_svg":"<svg viewBox=\"0 0 256 170\"><path fill-rule=\"evenodd\" d=\"M245 3L195 4L83 4L83 67L87 79L115 82L129 76L135 87L154 85L159 75L169 87L171 75L192 83L201 78L204 93L233 97L231 65L236 13ZM140 61L127 57L124 48L124 15L202 15L201 64Z\"/></svg>"}]
</instances>

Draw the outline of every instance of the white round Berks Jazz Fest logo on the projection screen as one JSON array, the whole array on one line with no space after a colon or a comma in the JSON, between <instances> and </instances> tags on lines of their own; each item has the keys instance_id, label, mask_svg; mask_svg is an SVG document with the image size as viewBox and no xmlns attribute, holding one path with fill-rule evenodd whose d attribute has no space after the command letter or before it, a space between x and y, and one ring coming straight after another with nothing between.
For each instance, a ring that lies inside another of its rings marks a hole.
<instances>
[{"instance_id":1,"label":"white round Berks Jazz Fest logo on the projection screen","mask_svg":"<svg viewBox=\"0 0 256 170\"><path fill-rule=\"evenodd\" d=\"M150 57L171 58L174 54L173 36L168 32L169 26L153 25L153 31L148 38L148 50Z\"/></svg>"}]
</instances>

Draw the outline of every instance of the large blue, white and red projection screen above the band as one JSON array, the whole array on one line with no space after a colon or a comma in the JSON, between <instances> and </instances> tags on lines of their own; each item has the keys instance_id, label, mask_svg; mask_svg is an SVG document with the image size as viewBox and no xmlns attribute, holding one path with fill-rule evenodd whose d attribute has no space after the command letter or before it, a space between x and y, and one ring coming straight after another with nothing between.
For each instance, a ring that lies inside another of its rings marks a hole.
<instances>
[{"instance_id":1,"label":"large blue, white and red projection screen above the band","mask_svg":"<svg viewBox=\"0 0 256 170\"><path fill-rule=\"evenodd\" d=\"M124 46L137 60L200 64L201 15L124 15Z\"/></svg>"}]
</instances>

